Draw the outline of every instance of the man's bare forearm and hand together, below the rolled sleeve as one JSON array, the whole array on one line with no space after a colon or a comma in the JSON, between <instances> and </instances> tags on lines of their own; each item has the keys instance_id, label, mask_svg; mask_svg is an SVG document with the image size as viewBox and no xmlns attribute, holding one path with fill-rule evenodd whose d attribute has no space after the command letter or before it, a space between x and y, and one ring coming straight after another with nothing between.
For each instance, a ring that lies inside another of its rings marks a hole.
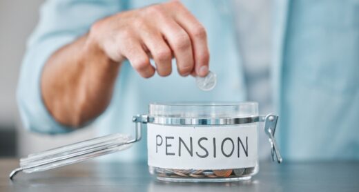
<instances>
[{"instance_id":1,"label":"man's bare forearm and hand together, below the rolled sleeve","mask_svg":"<svg viewBox=\"0 0 359 192\"><path fill-rule=\"evenodd\" d=\"M87 35L48 59L41 76L42 97L57 122L81 126L108 106L124 59L148 78L155 70L170 75L173 57L180 75L208 73L206 32L181 3L122 12L97 21Z\"/></svg>"}]
</instances>

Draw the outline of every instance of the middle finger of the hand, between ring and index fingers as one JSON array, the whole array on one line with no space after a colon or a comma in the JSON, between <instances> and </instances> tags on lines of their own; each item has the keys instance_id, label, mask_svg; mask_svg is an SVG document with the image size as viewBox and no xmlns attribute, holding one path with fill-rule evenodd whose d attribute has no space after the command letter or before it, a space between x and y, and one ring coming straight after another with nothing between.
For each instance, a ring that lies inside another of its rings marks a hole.
<instances>
[{"instance_id":1,"label":"middle finger of the hand, between ring and index fingers","mask_svg":"<svg viewBox=\"0 0 359 192\"><path fill-rule=\"evenodd\" d=\"M179 75L187 76L194 68L193 49L191 38L187 32L172 19L166 19L162 23L162 33L166 38L177 62Z\"/></svg>"}]
</instances>

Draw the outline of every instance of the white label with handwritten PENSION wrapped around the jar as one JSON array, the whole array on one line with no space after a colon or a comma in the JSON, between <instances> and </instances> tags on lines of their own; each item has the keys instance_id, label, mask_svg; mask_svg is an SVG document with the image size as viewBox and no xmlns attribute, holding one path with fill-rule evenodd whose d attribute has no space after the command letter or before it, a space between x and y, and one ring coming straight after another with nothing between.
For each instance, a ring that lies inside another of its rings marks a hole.
<instances>
[{"instance_id":1,"label":"white label with handwritten PENSION wrapped around the jar","mask_svg":"<svg viewBox=\"0 0 359 192\"><path fill-rule=\"evenodd\" d=\"M148 165L166 169L237 169L258 161L257 124L147 124Z\"/></svg>"}]
</instances>

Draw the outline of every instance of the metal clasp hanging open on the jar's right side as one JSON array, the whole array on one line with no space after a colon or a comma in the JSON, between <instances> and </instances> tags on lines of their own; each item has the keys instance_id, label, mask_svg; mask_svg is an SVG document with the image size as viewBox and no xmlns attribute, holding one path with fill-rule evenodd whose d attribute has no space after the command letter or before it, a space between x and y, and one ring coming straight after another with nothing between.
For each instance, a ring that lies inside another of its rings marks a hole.
<instances>
[{"instance_id":1,"label":"metal clasp hanging open on the jar's right side","mask_svg":"<svg viewBox=\"0 0 359 192\"><path fill-rule=\"evenodd\" d=\"M278 144L277 142L275 142L275 138L274 138L275 128L277 126L277 120L278 120L278 115L272 115L272 114L266 115L265 117L262 116L260 118L260 121L264 122L264 131L266 132L266 135L268 135L269 137L269 143L271 144L272 160L274 161L274 155L275 155L277 162L281 163L283 159L282 156L280 155Z\"/></svg>"}]
</instances>

